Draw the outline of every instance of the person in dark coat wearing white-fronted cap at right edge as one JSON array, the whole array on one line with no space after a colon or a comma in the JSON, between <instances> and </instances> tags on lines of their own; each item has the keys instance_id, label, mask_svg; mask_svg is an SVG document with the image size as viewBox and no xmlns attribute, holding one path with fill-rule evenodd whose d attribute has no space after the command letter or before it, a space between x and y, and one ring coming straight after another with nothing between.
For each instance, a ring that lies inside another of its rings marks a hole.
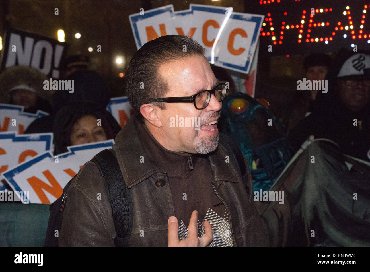
<instances>
[{"instance_id":1,"label":"person in dark coat wearing white-fronted cap at right edge","mask_svg":"<svg viewBox=\"0 0 370 272\"><path fill-rule=\"evenodd\" d=\"M344 154L370 161L370 51L337 54L326 77L327 93L319 91L317 107L290 132L295 150L310 136L327 138Z\"/></svg>"}]
</instances>

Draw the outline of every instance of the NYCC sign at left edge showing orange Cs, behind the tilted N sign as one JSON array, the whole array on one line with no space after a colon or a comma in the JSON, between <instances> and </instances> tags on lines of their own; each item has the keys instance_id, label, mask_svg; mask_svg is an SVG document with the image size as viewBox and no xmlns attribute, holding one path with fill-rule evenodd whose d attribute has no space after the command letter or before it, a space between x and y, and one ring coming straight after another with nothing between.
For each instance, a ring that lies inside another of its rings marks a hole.
<instances>
[{"instance_id":1,"label":"NYCC sign at left edge showing orange Cs, behind the tilted N sign","mask_svg":"<svg viewBox=\"0 0 370 272\"><path fill-rule=\"evenodd\" d=\"M0 173L21 162L51 149L53 133L17 135L16 132L0 133ZM0 185L0 191L5 186Z\"/></svg>"}]
</instances>

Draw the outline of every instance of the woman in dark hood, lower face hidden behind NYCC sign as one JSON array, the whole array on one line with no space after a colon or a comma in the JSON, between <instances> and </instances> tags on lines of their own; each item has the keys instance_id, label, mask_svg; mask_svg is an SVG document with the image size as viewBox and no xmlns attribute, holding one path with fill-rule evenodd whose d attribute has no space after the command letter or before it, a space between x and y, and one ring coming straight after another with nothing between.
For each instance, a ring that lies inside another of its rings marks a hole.
<instances>
[{"instance_id":1,"label":"woman in dark hood, lower face hidden behind NYCC sign","mask_svg":"<svg viewBox=\"0 0 370 272\"><path fill-rule=\"evenodd\" d=\"M61 108L54 119L54 155L67 146L114 139L121 130L105 108L91 103L73 103Z\"/></svg>"}]
</instances>

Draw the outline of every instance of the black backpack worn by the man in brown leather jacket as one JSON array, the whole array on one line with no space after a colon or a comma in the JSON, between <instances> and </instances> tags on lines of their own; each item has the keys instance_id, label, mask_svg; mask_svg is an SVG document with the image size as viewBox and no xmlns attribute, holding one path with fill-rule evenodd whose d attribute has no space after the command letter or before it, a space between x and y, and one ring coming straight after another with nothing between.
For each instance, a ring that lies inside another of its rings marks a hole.
<instances>
[{"instance_id":1,"label":"black backpack worn by the man in brown leather jacket","mask_svg":"<svg viewBox=\"0 0 370 272\"><path fill-rule=\"evenodd\" d=\"M114 238L115 246L128 246L132 231L133 212L131 192L126 188L120 166L118 165L115 152L105 149L91 159L94 162L105 183L104 188L112 208L112 217L117 236ZM67 191L74 180L73 177L63 189L63 194L50 205L50 217L46 231L44 246L58 246L58 236L65 205L67 205ZM123 182L122 182L123 181ZM123 186L122 186L123 185Z\"/></svg>"}]
</instances>

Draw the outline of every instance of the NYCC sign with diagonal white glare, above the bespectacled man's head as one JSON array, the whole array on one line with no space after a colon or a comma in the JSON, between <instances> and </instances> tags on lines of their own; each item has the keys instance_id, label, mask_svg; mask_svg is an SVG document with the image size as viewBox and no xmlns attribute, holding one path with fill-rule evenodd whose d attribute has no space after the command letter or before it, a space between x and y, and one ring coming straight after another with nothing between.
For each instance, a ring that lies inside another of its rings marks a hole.
<instances>
[{"instance_id":1,"label":"NYCC sign with diagonal white glare, above the bespectacled man's head","mask_svg":"<svg viewBox=\"0 0 370 272\"><path fill-rule=\"evenodd\" d=\"M248 74L264 16L233 12L232 7L190 4L174 11L171 5L129 16L139 49L164 35L188 35L207 49L205 56L216 66ZM186 52L186 48L181 48Z\"/></svg>"}]
</instances>

